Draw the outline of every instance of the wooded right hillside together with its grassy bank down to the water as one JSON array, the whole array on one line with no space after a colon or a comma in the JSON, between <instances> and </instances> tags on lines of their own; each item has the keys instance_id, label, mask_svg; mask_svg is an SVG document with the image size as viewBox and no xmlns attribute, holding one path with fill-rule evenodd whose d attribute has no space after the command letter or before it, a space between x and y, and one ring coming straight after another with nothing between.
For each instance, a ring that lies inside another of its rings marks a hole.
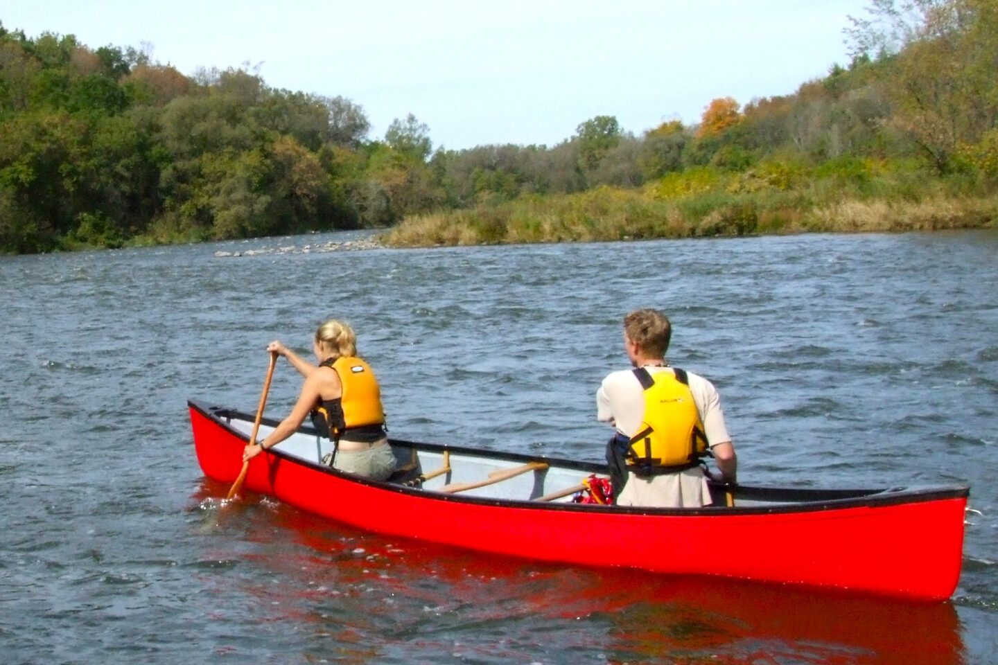
<instances>
[{"instance_id":1,"label":"wooded right hillside together with its grassy bank down to the water","mask_svg":"<svg viewBox=\"0 0 998 665\"><path fill-rule=\"evenodd\" d=\"M443 156L448 208L393 245L994 226L998 3L871 0L847 66L795 93L710 102L640 136L613 117L551 150ZM778 63L774 63L778 66ZM544 163L542 168L534 165ZM540 196L536 194L541 194Z\"/></svg>"}]
</instances>

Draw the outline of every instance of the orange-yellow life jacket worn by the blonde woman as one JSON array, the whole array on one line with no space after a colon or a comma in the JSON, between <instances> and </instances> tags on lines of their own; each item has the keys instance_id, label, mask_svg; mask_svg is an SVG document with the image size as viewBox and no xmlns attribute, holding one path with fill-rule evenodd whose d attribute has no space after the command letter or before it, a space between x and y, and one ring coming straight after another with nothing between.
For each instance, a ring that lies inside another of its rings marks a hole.
<instances>
[{"instance_id":1,"label":"orange-yellow life jacket worn by the blonde woman","mask_svg":"<svg viewBox=\"0 0 998 665\"><path fill-rule=\"evenodd\" d=\"M320 367L331 367L339 376L342 395L322 400L312 411L312 424L319 436L338 441L343 433L349 439L373 442L385 436L381 389L370 366L360 358L340 357L325 360Z\"/></svg>"}]
</instances>

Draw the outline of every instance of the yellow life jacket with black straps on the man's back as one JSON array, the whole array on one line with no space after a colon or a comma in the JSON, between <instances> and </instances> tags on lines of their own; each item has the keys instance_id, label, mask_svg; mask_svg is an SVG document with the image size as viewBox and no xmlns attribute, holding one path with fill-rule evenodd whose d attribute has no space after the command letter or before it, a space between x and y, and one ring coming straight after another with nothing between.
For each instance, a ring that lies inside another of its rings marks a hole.
<instances>
[{"instance_id":1,"label":"yellow life jacket with black straps on the man's back","mask_svg":"<svg viewBox=\"0 0 998 665\"><path fill-rule=\"evenodd\" d=\"M627 442L628 468L639 476L696 467L707 453L707 437L687 373L652 374L644 367L634 375L645 389L645 415L638 433Z\"/></svg>"}]
</instances>

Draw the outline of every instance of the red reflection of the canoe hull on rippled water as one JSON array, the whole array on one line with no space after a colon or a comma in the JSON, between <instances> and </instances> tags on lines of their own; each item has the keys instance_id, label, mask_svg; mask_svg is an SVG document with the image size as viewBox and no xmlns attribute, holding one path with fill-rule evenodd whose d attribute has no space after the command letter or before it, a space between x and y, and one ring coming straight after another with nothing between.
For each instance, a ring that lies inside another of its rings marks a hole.
<instances>
[{"instance_id":1,"label":"red reflection of the canoe hull on rippled water","mask_svg":"<svg viewBox=\"0 0 998 665\"><path fill-rule=\"evenodd\" d=\"M205 481L199 499L225 490ZM271 612L263 623L290 620L299 635L331 640L305 647L316 656L345 649L355 662L396 653L422 662L460 644L480 662L538 652L611 663L964 662L949 602L562 567L392 539L262 498L223 512L220 537L246 529L260 550L248 592Z\"/></svg>"}]
</instances>

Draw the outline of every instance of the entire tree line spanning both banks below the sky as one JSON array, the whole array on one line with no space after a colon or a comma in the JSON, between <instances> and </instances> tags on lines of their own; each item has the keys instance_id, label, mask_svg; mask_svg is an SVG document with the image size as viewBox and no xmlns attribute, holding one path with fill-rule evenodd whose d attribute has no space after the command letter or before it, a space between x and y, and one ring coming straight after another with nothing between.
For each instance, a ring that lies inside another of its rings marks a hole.
<instances>
[{"instance_id":1,"label":"entire tree line spanning both banks below the sky","mask_svg":"<svg viewBox=\"0 0 998 665\"><path fill-rule=\"evenodd\" d=\"M847 33L848 66L791 95L714 100L693 127L667 121L636 135L607 115L552 147L450 151L434 150L411 114L371 140L360 105L270 88L249 68L185 76L131 47L0 25L0 252L386 227L441 213L487 227L497 210L561 209L566 196L631 207L635 196L685 196L698 218L719 206L757 216L746 200L993 200L993 0L873 0Z\"/></svg>"}]
</instances>

